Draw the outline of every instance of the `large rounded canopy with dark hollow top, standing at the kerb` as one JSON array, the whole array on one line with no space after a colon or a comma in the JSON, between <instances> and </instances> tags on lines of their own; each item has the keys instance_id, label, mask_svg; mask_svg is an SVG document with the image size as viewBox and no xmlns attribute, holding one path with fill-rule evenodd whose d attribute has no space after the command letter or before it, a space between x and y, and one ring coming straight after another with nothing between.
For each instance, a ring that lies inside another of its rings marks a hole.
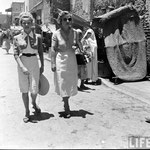
<instances>
[{"instance_id":1,"label":"large rounded canopy with dark hollow top, standing at the kerb","mask_svg":"<svg viewBox=\"0 0 150 150\"><path fill-rule=\"evenodd\" d=\"M146 39L133 7L120 7L94 18L92 26L103 29L107 58L118 78L135 81L146 76Z\"/></svg>"}]
</instances>

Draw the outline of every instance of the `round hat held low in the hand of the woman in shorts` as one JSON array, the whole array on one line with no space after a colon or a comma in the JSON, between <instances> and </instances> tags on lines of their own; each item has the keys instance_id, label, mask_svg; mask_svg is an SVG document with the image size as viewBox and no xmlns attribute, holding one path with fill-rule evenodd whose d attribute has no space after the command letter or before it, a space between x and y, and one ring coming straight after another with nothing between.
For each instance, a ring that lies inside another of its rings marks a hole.
<instances>
[{"instance_id":1,"label":"round hat held low in the hand of the woman in shorts","mask_svg":"<svg viewBox=\"0 0 150 150\"><path fill-rule=\"evenodd\" d=\"M50 88L50 85L49 85L48 79L43 74L41 74L38 93L44 96L48 93L49 88Z\"/></svg>"}]
</instances>

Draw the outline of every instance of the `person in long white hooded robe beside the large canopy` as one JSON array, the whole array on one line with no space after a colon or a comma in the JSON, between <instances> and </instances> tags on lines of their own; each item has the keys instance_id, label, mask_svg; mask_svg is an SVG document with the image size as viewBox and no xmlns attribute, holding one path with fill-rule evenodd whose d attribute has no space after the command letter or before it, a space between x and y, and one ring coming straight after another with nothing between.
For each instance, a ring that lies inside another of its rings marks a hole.
<instances>
[{"instance_id":1,"label":"person in long white hooded robe beside the large canopy","mask_svg":"<svg viewBox=\"0 0 150 150\"><path fill-rule=\"evenodd\" d=\"M87 80L92 81L96 85L98 81L98 64L97 64L97 41L92 29L88 29L82 39L83 49L88 54L87 63Z\"/></svg>"}]
</instances>

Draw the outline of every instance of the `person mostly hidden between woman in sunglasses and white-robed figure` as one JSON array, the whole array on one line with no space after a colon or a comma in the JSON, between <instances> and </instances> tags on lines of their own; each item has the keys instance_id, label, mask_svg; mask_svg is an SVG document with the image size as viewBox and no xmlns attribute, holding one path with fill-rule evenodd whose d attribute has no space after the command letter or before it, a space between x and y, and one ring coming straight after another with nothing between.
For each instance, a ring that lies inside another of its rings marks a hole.
<instances>
[{"instance_id":1,"label":"person mostly hidden between woman in sunglasses and white-robed figure","mask_svg":"<svg viewBox=\"0 0 150 150\"><path fill-rule=\"evenodd\" d=\"M78 39L81 41L83 37L82 31L80 29L77 29L76 31ZM78 63L78 78L81 80L78 90L86 90L88 89L88 87L84 85L84 81L87 78L86 59L84 57L84 52L81 52L79 48L76 49L76 57Z\"/></svg>"}]
</instances>

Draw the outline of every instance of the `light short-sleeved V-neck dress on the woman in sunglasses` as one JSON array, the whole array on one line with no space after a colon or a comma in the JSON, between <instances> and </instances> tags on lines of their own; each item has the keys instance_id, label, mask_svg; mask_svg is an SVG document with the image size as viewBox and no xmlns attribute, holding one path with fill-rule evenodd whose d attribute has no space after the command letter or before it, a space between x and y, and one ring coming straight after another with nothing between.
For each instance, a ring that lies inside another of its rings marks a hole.
<instances>
[{"instance_id":1,"label":"light short-sleeved V-neck dress on the woman in sunglasses","mask_svg":"<svg viewBox=\"0 0 150 150\"><path fill-rule=\"evenodd\" d=\"M52 47L57 52L54 72L55 92L61 97L74 96L78 92L77 61L75 50L72 48L75 32L74 29L70 29L67 37L62 29L58 29L52 37Z\"/></svg>"}]
</instances>

